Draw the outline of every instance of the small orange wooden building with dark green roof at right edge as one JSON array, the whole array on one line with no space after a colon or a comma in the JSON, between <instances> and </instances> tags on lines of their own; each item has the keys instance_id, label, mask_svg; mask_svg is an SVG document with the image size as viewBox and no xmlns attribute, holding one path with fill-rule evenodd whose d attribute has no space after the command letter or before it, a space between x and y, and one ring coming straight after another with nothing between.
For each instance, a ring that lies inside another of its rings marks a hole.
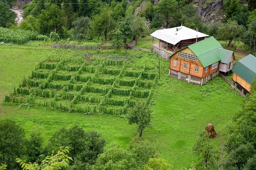
<instances>
[{"instance_id":1,"label":"small orange wooden building with dark green roof at right edge","mask_svg":"<svg viewBox=\"0 0 256 170\"><path fill-rule=\"evenodd\" d=\"M247 55L236 63L232 71L232 81L239 85L242 92L249 93L251 82L256 75L256 57Z\"/></svg>"}]
</instances>

